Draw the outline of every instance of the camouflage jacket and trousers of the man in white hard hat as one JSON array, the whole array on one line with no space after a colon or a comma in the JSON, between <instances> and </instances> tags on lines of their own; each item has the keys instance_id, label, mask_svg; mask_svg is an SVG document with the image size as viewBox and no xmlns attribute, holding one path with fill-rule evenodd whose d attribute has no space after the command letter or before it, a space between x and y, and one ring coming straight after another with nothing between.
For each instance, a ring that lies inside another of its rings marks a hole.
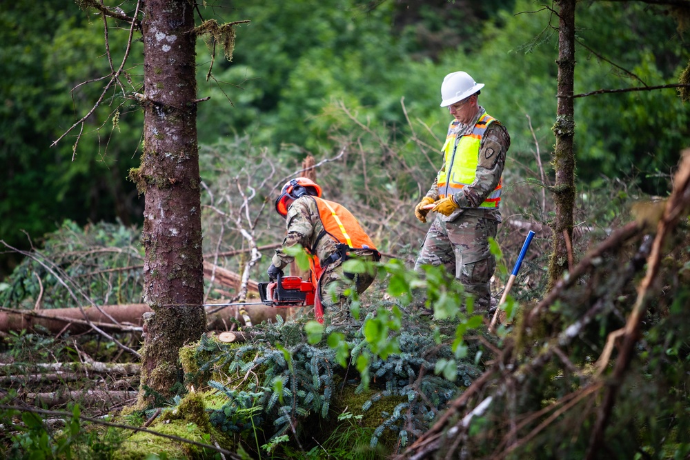
<instances>
[{"instance_id":1,"label":"camouflage jacket and trousers of the man in white hard hat","mask_svg":"<svg viewBox=\"0 0 690 460\"><path fill-rule=\"evenodd\" d=\"M472 133L477 120L485 112L480 106L471 123L453 122L449 134L457 133L456 145L462 136ZM415 263L415 271L420 273L424 273L423 265L444 265L449 272L455 273L465 291L474 295L476 312L488 312L491 306L489 281L496 268L496 260L489 252L489 237L496 237L501 222L498 208L479 206L498 185L510 145L508 130L500 123L491 123L482 137L475 180L453 194L460 208L449 216L437 214ZM439 172L445 168L444 164ZM426 196L434 200L439 198L437 181Z\"/></svg>"}]
</instances>

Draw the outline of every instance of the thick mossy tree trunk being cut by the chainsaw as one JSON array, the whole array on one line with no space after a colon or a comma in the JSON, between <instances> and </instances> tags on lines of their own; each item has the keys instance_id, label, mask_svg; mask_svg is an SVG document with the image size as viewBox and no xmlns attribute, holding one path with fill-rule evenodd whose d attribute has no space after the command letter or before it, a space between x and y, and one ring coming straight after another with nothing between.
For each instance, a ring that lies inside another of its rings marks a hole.
<instances>
[{"instance_id":1,"label":"thick mossy tree trunk being cut by the chainsaw","mask_svg":"<svg viewBox=\"0 0 690 460\"><path fill-rule=\"evenodd\" d=\"M142 242L145 322L141 385L165 397L181 382L179 348L206 330L197 146L193 3L146 0ZM144 402L142 397L140 403Z\"/></svg>"}]
</instances>

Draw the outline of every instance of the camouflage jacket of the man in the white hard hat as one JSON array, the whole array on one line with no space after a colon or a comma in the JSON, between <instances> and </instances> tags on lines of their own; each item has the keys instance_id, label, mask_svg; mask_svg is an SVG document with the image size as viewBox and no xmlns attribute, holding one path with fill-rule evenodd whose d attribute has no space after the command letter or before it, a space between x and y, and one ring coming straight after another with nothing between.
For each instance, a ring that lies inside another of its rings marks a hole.
<instances>
[{"instance_id":1,"label":"camouflage jacket of the man in the white hard hat","mask_svg":"<svg viewBox=\"0 0 690 460\"><path fill-rule=\"evenodd\" d=\"M482 117L486 112L483 107L480 106L475 118L466 125L462 123L453 123L449 128L449 134L455 131L457 134L457 141L460 137L466 134L471 134L477 120ZM500 208L479 208L480 204L489 197L489 194L498 185L503 174L503 168L506 165L506 154L511 146L511 137L508 134L505 126L500 123L491 123L489 128L486 128L486 132L482 137L482 144L479 150L479 164L477 165L477 173L475 175L475 180L469 186L466 186L453 195L455 203L460 206L460 209L455 210L451 215L444 216L439 215L441 219L446 222L454 221L460 214L469 214L477 217L486 217L489 219L494 219L496 221L501 221ZM489 150L491 149L491 150ZM488 157L487 157L488 155ZM439 170L439 173L444 171L446 168L445 161ZM427 197L431 197L434 200L439 198L438 185L437 185L438 174L436 179L426 192Z\"/></svg>"}]
</instances>

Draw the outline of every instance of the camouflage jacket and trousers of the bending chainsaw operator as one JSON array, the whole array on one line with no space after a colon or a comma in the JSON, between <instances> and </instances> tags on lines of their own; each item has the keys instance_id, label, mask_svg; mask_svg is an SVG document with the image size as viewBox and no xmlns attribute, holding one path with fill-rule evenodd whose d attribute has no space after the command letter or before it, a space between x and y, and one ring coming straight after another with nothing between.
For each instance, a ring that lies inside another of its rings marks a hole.
<instances>
[{"instance_id":1,"label":"camouflage jacket and trousers of the bending chainsaw operator","mask_svg":"<svg viewBox=\"0 0 690 460\"><path fill-rule=\"evenodd\" d=\"M311 197L304 196L296 199L288 208L285 219L287 236L283 240L283 248L289 248L300 244L304 248L312 248L319 234L324 230L324 225L319 217L319 208ZM336 252L337 241L328 235L322 237L316 248L315 256L319 261L324 261ZM284 268L293 261L294 257L285 254L282 249L277 249L271 262L277 268ZM351 251L355 256L370 261L377 261L377 253L369 249L355 249ZM357 294L362 294L375 279L375 272L346 273L342 268L342 259L322 267L322 275L319 280L319 293L321 295L324 313L331 317L331 321L344 321L350 317L348 296L345 290L354 285ZM331 286L334 284L334 286ZM331 294L331 290L335 292Z\"/></svg>"}]
</instances>

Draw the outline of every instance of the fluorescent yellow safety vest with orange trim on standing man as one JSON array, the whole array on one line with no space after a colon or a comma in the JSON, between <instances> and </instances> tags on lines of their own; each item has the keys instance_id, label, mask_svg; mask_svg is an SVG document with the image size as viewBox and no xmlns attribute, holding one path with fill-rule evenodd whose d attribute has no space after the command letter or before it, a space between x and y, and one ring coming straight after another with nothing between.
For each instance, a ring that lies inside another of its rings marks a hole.
<instances>
[{"instance_id":1,"label":"fluorescent yellow safety vest with orange trim on standing man","mask_svg":"<svg viewBox=\"0 0 690 460\"><path fill-rule=\"evenodd\" d=\"M445 165L437 179L437 186L439 196L445 198L449 194L455 194L462 190L464 186L469 186L474 182L477 174L477 165L479 164L479 149L482 145L482 137L486 128L490 123L500 123L489 114L484 113L471 134L460 137L460 140L455 141L455 133L451 133L453 123L449 126L449 134L446 137L446 142L443 145L442 152L444 152ZM450 180L447 179L450 174ZM501 202L501 190L503 188L503 179L498 181L496 188L486 197L484 202L480 204L480 208L498 208Z\"/></svg>"}]
</instances>

